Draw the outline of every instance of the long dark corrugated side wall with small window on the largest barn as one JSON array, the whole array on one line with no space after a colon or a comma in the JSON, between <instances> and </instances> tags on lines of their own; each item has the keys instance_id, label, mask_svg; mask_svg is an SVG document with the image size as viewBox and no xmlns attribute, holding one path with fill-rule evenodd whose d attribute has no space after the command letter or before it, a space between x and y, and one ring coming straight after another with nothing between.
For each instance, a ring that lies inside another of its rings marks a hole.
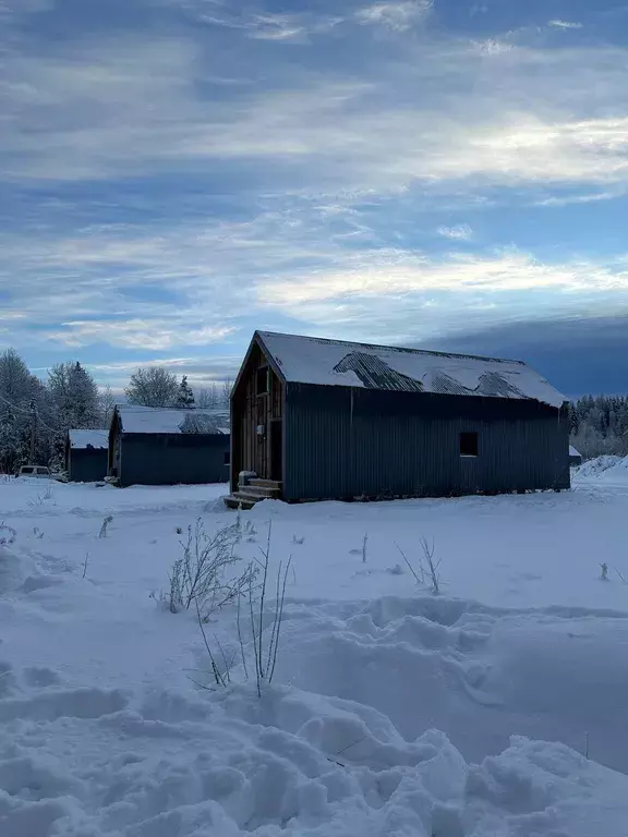
<instances>
[{"instance_id":1,"label":"long dark corrugated side wall with small window on the largest barn","mask_svg":"<svg viewBox=\"0 0 628 837\"><path fill-rule=\"evenodd\" d=\"M290 384L285 448L287 500L569 487L567 415L536 401Z\"/></svg>"}]
</instances>

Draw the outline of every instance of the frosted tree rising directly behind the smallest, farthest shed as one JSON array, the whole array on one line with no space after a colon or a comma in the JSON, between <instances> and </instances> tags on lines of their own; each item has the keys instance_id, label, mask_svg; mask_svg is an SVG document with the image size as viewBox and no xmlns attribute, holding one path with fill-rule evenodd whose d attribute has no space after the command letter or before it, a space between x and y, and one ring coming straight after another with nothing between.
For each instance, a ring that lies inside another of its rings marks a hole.
<instances>
[{"instance_id":1,"label":"frosted tree rising directly behind the smallest, farthest shed","mask_svg":"<svg viewBox=\"0 0 628 837\"><path fill-rule=\"evenodd\" d=\"M63 433L74 427L99 426L98 387L78 361L53 366L48 373L48 390L57 409L57 423Z\"/></svg>"}]
</instances>

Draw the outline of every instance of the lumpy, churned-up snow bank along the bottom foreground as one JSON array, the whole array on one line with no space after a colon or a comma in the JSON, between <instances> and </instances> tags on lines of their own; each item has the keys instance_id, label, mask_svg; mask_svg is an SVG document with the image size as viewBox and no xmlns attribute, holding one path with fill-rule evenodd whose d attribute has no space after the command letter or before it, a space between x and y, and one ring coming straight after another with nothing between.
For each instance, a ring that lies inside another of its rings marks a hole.
<instances>
[{"instance_id":1,"label":"lumpy, churned-up snow bank along the bottom foreground","mask_svg":"<svg viewBox=\"0 0 628 837\"><path fill-rule=\"evenodd\" d=\"M515 738L473 766L443 732L408 742L293 688L48 692L0 733L3 836L625 837L628 778L560 744Z\"/></svg>"}]
</instances>

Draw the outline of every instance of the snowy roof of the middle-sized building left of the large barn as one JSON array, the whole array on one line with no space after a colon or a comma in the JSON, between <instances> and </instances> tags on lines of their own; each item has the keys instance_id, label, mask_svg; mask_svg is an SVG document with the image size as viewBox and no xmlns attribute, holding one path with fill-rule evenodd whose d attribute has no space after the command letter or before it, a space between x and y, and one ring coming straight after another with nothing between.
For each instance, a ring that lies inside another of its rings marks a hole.
<instances>
[{"instance_id":1,"label":"snowy roof of the middle-sized building left of the large barn","mask_svg":"<svg viewBox=\"0 0 628 837\"><path fill-rule=\"evenodd\" d=\"M216 410L169 410L118 404L123 433L206 433L228 435L229 416Z\"/></svg>"}]
</instances>

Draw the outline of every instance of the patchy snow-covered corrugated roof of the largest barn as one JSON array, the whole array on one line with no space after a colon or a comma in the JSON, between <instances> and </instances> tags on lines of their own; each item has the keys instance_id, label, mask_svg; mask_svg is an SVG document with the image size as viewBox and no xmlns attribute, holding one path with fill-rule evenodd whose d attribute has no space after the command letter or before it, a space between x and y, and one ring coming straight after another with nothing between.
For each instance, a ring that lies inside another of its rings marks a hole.
<instances>
[{"instance_id":1,"label":"patchy snow-covered corrugated roof of the largest barn","mask_svg":"<svg viewBox=\"0 0 628 837\"><path fill-rule=\"evenodd\" d=\"M557 408L567 400L522 361L270 331L257 333L286 380L291 383L533 399Z\"/></svg>"}]
</instances>

